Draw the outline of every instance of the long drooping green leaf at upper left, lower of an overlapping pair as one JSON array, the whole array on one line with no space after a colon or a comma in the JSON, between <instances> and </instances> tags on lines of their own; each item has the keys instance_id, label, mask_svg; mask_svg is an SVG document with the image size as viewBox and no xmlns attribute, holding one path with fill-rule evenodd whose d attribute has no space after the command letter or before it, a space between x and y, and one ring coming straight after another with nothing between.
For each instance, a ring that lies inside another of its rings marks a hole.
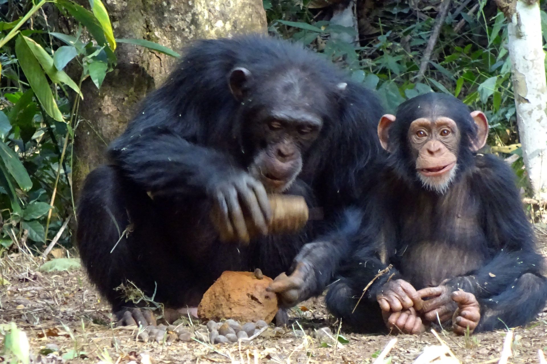
<instances>
[{"instance_id":1,"label":"long drooping green leaf at upper left, lower of an overlapping pair","mask_svg":"<svg viewBox=\"0 0 547 364\"><path fill-rule=\"evenodd\" d=\"M28 83L30 83L34 94L36 94L36 97L40 104L42 104L45 112L54 118L54 120L63 121L63 116L55 103L53 93L51 93L49 82L45 78L42 67L40 67L40 64L36 57L34 57L24 38L23 35L19 35L15 41L15 54L19 59L19 65L25 73Z\"/></svg>"}]
</instances>

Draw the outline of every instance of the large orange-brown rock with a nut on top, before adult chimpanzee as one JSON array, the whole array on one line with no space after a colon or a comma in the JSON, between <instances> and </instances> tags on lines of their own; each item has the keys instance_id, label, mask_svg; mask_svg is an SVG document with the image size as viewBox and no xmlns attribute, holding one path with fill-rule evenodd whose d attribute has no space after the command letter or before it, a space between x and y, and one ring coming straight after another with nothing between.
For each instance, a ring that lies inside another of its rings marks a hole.
<instances>
[{"instance_id":1,"label":"large orange-brown rock with a nut on top, before adult chimpanzee","mask_svg":"<svg viewBox=\"0 0 547 364\"><path fill-rule=\"evenodd\" d=\"M275 293L266 291L271 282L269 277L255 278L252 272L225 271L203 295L197 315L210 320L261 320L267 325L278 310Z\"/></svg>"}]
</instances>

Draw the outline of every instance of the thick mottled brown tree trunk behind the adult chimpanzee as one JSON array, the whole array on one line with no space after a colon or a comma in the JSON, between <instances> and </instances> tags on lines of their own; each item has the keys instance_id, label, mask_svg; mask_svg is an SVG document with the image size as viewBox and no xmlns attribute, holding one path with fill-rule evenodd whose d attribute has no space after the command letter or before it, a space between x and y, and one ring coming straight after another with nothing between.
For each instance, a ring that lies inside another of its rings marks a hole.
<instances>
[{"instance_id":1,"label":"thick mottled brown tree trunk behind the adult chimpanzee","mask_svg":"<svg viewBox=\"0 0 547 364\"><path fill-rule=\"evenodd\" d=\"M155 41L178 51L189 41L246 32L266 32L261 0L106 0L116 38ZM84 177L105 162L104 150L133 116L137 103L158 87L177 61L130 44L118 43L118 65L100 90L82 85L84 100L74 143L74 197Z\"/></svg>"}]
</instances>

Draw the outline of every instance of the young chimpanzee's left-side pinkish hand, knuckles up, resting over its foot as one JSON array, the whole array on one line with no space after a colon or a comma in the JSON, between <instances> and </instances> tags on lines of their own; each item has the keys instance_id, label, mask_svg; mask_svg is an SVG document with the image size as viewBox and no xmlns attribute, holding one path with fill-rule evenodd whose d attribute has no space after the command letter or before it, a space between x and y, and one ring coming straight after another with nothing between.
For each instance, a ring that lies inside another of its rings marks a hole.
<instances>
[{"instance_id":1,"label":"young chimpanzee's left-side pinkish hand, knuckles up, resting over its foot","mask_svg":"<svg viewBox=\"0 0 547 364\"><path fill-rule=\"evenodd\" d=\"M414 307L416 311L422 308L422 299L412 284L404 279L395 279L383 285L376 295L382 311L398 312Z\"/></svg>"}]
</instances>

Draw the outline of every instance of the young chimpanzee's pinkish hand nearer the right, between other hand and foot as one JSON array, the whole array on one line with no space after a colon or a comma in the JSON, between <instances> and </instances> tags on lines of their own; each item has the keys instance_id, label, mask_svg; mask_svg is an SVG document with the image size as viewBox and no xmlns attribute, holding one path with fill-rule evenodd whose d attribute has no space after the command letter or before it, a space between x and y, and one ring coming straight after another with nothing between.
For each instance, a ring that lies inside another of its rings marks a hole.
<instances>
[{"instance_id":1,"label":"young chimpanzee's pinkish hand nearer the right, between other hand and foot","mask_svg":"<svg viewBox=\"0 0 547 364\"><path fill-rule=\"evenodd\" d=\"M423 288L418 291L418 295L422 299L428 299L423 301L422 311L423 317L430 322L440 320L441 323L445 323L456 311L457 304L452 300L452 291L445 285Z\"/></svg>"}]
</instances>

